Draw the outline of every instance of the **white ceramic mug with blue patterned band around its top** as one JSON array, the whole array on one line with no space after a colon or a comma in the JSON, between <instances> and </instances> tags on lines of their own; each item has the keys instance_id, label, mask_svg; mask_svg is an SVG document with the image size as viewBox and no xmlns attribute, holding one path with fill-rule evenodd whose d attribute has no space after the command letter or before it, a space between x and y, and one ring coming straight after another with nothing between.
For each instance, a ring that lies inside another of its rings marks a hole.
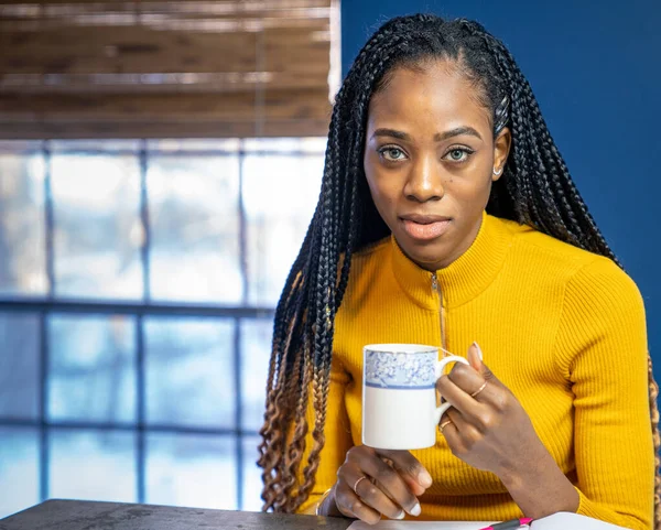
<instances>
[{"instance_id":1,"label":"white ceramic mug with blue patterned band around its top","mask_svg":"<svg viewBox=\"0 0 661 530\"><path fill-rule=\"evenodd\" d=\"M468 365L420 344L371 344L362 348L362 443L383 450L418 450L436 443L451 407L436 407L436 379L449 363Z\"/></svg>"}]
</instances>

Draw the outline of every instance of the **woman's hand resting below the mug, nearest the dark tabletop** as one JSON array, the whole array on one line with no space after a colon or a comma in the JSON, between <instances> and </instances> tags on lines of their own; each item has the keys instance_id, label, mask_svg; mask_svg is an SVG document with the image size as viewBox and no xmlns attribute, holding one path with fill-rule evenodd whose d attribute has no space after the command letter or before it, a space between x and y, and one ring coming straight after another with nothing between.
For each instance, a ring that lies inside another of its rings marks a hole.
<instances>
[{"instance_id":1,"label":"woman's hand resting below the mug, nearest the dark tabletop","mask_svg":"<svg viewBox=\"0 0 661 530\"><path fill-rule=\"evenodd\" d=\"M381 516L403 519L407 512L418 517L418 497L431 485L432 477L410 452L358 445L347 452L337 470L335 505L343 516L369 524Z\"/></svg>"}]
</instances>

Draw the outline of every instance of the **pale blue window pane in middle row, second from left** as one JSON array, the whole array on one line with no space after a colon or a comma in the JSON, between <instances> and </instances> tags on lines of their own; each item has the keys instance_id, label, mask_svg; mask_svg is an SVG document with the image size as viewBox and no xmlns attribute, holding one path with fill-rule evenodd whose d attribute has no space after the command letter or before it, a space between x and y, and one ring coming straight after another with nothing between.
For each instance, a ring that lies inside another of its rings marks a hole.
<instances>
[{"instance_id":1,"label":"pale blue window pane in middle row, second from left","mask_svg":"<svg viewBox=\"0 0 661 530\"><path fill-rule=\"evenodd\" d=\"M55 315L48 333L48 418L134 421L134 320Z\"/></svg>"}]
</instances>

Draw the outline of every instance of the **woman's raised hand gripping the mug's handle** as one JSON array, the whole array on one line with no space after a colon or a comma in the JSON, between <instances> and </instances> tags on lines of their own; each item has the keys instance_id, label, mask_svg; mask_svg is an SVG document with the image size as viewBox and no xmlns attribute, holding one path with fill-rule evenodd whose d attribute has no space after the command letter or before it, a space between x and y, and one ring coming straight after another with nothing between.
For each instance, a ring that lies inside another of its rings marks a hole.
<instances>
[{"instance_id":1,"label":"woman's raised hand gripping the mug's handle","mask_svg":"<svg viewBox=\"0 0 661 530\"><path fill-rule=\"evenodd\" d=\"M468 361L470 366L457 363L436 382L452 404L440 426L453 454L501 479L534 467L546 451L528 413L481 361L477 344L468 348Z\"/></svg>"}]
</instances>

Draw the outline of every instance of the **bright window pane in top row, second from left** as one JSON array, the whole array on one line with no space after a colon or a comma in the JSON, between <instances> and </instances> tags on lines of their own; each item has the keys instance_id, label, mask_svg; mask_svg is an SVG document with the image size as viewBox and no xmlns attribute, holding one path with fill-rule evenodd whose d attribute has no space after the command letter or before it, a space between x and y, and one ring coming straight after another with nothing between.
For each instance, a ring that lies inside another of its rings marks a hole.
<instances>
[{"instance_id":1,"label":"bright window pane in top row, second from left","mask_svg":"<svg viewBox=\"0 0 661 530\"><path fill-rule=\"evenodd\" d=\"M133 155L53 155L55 293L139 299L140 171Z\"/></svg>"}]
</instances>

